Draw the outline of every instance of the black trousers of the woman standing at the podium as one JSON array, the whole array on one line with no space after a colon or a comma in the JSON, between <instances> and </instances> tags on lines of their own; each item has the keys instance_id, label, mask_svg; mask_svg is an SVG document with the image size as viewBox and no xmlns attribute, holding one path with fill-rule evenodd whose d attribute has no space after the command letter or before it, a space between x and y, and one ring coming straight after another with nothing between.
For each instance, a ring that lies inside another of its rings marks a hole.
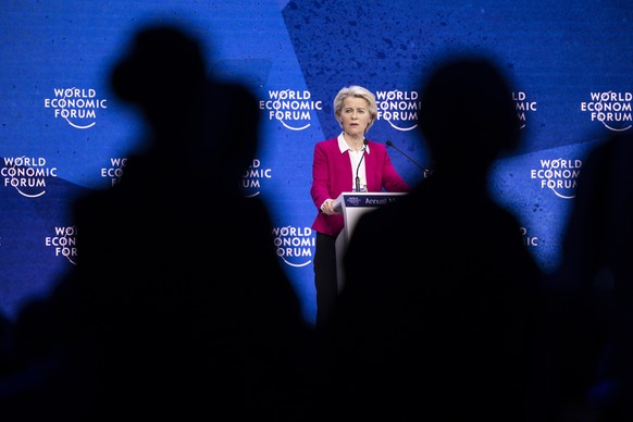
<instances>
[{"instance_id":1,"label":"black trousers of the woman standing at the podium","mask_svg":"<svg viewBox=\"0 0 633 422\"><path fill-rule=\"evenodd\" d=\"M338 297L336 237L316 232L314 244L314 287L316 289L316 330L332 323Z\"/></svg>"}]
</instances>

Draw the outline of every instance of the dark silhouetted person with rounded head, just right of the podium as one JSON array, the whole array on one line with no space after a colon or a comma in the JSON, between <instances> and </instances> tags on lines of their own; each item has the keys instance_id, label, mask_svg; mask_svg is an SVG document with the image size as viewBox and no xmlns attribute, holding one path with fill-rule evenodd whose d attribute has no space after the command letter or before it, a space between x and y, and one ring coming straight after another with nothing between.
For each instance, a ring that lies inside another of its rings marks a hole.
<instances>
[{"instance_id":1,"label":"dark silhouetted person with rounded head, just right of the podium","mask_svg":"<svg viewBox=\"0 0 633 422\"><path fill-rule=\"evenodd\" d=\"M337 406L357 420L525 421L541 270L487 187L520 141L510 79L485 55L446 58L420 98L433 172L363 214L345 255Z\"/></svg>"}]
</instances>

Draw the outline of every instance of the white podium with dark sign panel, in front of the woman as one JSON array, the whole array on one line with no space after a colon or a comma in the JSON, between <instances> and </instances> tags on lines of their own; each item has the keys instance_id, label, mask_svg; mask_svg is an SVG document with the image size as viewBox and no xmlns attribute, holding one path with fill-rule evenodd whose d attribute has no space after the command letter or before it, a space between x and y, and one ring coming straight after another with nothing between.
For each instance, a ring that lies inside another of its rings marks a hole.
<instances>
[{"instance_id":1,"label":"white podium with dark sign panel, in front of the woman","mask_svg":"<svg viewBox=\"0 0 633 422\"><path fill-rule=\"evenodd\" d=\"M351 233L358 220L365 212L375 210L378 207L396 201L406 193L385 193L385 191L362 191L362 193L343 193L334 200L334 210L343 214L345 223L343 231L336 238L336 274L338 278L338 291L345 284L343 272L343 257L351 238Z\"/></svg>"}]
</instances>

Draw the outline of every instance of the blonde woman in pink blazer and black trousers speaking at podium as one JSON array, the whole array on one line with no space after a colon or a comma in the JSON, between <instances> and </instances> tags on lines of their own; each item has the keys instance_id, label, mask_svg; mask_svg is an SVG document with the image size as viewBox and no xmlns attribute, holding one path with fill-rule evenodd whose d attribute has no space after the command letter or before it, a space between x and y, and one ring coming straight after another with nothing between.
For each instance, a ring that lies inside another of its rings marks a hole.
<instances>
[{"instance_id":1,"label":"blonde woman in pink blazer and black trousers speaking at podium","mask_svg":"<svg viewBox=\"0 0 633 422\"><path fill-rule=\"evenodd\" d=\"M334 116L343 131L314 146L310 188L318 210L311 228L316 233L313 268L319 331L331 323L338 296L336 237L344 221L334 211L334 200L345 191L410 190L387 148L365 138L377 117L376 99L370 90L361 86L342 88L334 99Z\"/></svg>"}]
</instances>

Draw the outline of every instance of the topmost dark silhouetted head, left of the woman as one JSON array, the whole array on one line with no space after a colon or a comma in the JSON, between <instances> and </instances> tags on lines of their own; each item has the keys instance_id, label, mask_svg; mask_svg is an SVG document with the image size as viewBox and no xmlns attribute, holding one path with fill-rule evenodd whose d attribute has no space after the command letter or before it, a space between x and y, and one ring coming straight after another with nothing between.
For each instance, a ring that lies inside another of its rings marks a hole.
<instances>
[{"instance_id":1,"label":"topmost dark silhouetted head, left of the woman","mask_svg":"<svg viewBox=\"0 0 633 422\"><path fill-rule=\"evenodd\" d=\"M176 26L139 30L127 57L112 72L112 88L152 120L177 114L204 91L206 62L199 42Z\"/></svg>"}]
</instances>

